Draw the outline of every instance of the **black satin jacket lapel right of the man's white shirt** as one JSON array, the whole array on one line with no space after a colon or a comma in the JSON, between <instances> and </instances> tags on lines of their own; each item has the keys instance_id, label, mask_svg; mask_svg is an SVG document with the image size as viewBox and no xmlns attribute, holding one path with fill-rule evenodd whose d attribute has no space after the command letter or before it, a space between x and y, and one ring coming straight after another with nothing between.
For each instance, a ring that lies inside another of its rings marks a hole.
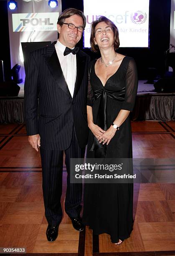
<instances>
[{"instance_id":1,"label":"black satin jacket lapel right of the man's white shirt","mask_svg":"<svg viewBox=\"0 0 175 256\"><path fill-rule=\"evenodd\" d=\"M85 56L81 56L80 52L76 54L76 82L75 82L73 98L76 96L81 86L81 82L84 77L85 64L86 64Z\"/></svg>"}]
</instances>

